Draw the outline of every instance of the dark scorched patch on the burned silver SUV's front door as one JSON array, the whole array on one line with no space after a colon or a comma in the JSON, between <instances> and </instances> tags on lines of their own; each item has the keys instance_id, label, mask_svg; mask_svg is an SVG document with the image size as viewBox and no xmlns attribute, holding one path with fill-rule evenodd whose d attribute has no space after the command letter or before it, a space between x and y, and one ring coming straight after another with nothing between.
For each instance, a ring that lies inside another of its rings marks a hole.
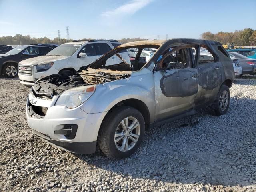
<instances>
[{"instance_id":1,"label":"dark scorched patch on the burned silver SUV's front door","mask_svg":"<svg viewBox=\"0 0 256 192\"><path fill-rule=\"evenodd\" d=\"M166 97L187 97L198 92L197 69L176 70L160 80L162 93Z\"/></svg>"}]
</instances>

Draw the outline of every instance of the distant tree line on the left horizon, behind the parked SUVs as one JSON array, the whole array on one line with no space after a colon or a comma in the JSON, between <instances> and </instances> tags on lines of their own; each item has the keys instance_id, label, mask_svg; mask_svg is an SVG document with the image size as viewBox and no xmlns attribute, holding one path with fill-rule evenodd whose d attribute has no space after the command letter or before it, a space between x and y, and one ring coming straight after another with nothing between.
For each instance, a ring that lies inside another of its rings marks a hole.
<instances>
[{"instance_id":1,"label":"distant tree line on the left horizon, behind the parked SUVs","mask_svg":"<svg viewBox=\"0 0 256 192\"><path fill-rule=\"evenodd\" d=\"M82 41L89 41L92 40L91 38L84 38L79 39ZM102 39L101 39L102 40ZM121 43L127 43L127 42L133 42L133 41L140 41L140 40L148 40L148 39L142 39L142 38L123 38L118 40ZM2 36L0 37L0 44L2 45L29 45L29 44L63 44L66 42L72 42L73 39L66 40L65 38L54 38L49 39L47 37L44 38L31 38L30 35L21 35L16 34L15 36Z\"/></svg>"}]
</instances>

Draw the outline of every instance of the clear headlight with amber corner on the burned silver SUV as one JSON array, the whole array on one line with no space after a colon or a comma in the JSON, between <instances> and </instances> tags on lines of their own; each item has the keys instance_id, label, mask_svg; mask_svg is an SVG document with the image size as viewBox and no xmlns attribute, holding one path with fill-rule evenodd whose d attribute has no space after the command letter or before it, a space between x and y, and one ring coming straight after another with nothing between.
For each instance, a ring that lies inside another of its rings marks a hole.
<instances>
[{"instance_id":1,"label":"clear headlight with amber corner on the burned silver SUV","mask_svg":"<svg viewBox=\"0 0 256 192\"><path fill-rule=\"evenodd\" d=\"M95 89L95 86L89 85L66 90L60 94L55 105L66 106L70 109L75 108L88 100L88 98L90 98L94 93Z\"/></svg>"}]
</instances>

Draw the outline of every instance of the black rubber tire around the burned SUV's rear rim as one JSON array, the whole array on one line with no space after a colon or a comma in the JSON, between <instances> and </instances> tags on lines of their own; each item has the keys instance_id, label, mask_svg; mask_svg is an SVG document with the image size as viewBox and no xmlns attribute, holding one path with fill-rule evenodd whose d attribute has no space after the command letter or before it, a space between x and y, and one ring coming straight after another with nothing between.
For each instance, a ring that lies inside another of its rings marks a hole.
<instances>
[{"instance_id":1,"label":"black rubber tire around the burned SUV's rear rim","mask_svg":"<svg viewBox=\"0 0 256 192\"><path fill-rule=\"evenodd\" d=\"M227 105L226 108L224 108L221 103L223 102L223 100L221 99L221 96L226 93L228 94L228 99L227 99ZM221 101L222 100L222 101ZM230 91L228 86L226 85L221 85L220 86L220 90L218 92L218 94L216 95L215 98L215 102L213 104L213 108L214 108L214 112L216 116L221 116L226 114L226 112L228 111L229 108L229 104L230 104Z\"/></svg>"}]
</instances>

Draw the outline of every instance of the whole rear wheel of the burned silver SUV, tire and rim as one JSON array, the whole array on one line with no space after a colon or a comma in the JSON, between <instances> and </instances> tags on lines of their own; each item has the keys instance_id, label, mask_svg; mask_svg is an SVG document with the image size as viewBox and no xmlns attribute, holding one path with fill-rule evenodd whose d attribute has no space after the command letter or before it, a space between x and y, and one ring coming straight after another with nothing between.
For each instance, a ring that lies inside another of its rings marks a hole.
<instances>
[{"instance_id":1,"label":"whole rear wheel of the burned silver SUV, tire and rim","mask_svg":"<svg viewBox=\"0 0 256 192\"><path fill-rule=\"evenodd\" d=\"M230 104L230 91L228 86L222 85L216 96L214 102L214 111L216 116L221 116L226 114Z\"/></svg>"}]
</instances>

